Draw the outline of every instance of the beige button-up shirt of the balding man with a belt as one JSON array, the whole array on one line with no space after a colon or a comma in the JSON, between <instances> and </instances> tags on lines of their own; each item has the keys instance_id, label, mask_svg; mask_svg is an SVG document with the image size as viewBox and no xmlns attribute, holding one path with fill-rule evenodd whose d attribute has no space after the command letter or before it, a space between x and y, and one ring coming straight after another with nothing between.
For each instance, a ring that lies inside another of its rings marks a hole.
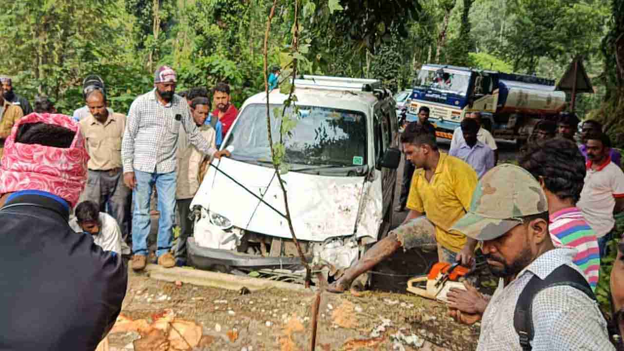
<instances>
[{"instance_id":1,"label":"beige button-up shirt of the balding man with a belt","mask_svg":"<svg viewBox=\"0 0 624 351\"><path fill-rule=\"evenodd\" d=\"M87 167L93 171L108 171L122 167L121 139L124 136L125 116L120 113L109 114L104 124L89 114L80 120L80 130L85 138L89 152Z\"/></svg>"}]
</instances>

